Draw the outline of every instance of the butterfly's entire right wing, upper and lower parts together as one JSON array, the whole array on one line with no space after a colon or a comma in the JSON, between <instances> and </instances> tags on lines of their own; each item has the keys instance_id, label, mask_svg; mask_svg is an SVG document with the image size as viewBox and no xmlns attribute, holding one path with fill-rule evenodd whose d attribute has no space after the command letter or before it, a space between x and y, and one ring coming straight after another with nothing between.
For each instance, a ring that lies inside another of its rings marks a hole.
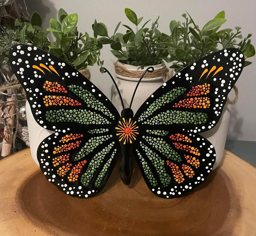
<instances>
[{"instance_id":1,"label":"butterfly's entire right wing, upper and lower parts together","mask_svg":"<svg viewBox=\"0 0 256 236\"><path fill-rule=\"evenodd\" d=\"M133 153L154 194L182 196L211 172L215 150L198 133L217 124L243 65L237 49L210 54L177 73L139 108Z\"/></svg>"}]
</instances>

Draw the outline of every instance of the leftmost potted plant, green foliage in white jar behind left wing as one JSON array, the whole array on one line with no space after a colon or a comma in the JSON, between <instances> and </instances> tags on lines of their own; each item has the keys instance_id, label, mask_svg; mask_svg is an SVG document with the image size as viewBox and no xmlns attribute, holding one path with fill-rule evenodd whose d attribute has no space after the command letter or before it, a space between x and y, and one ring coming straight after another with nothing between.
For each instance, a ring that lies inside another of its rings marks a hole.
<instances>
[{"instance_id":1,"label":"leftmost potted plant, green foliage in white jar behind left wing","mask_svg":"<svg viewBox=\"0 0 256 236\"><path fill-rule=\"evenodd\" d=\"M25 21L16 18L13 26L7 25L2 27L3 30L0 34L0 53L3 58L1 67L4 67L3 64L8 67L8 53L13 45L26 43L39 47L61 58L90 79L88 66L97 63L102 67L103 61L99 58L102 43L97 41L96 38L90 37L88 33L80 33L77 29L77 22L77 14L69 15L65 10L60 9L58 11L58 19L50 19L50 27L47 28L45 32L41 29L42 18L38 12L34 12L31 17ZM48 38L50 32L54 36L54 42L51 42ZM20 89L21 86L17 79L14 78L15 76L12 76L13 73L10 69L7 71L9 74L7 76L7 72L5 72L6 78L13 78L7 81L8 86L11 85L13 89L15 88L11 93L14 94L14 96L21 94L22 89ZM5 86L6 85L3 85L1 87L2 91L4 91ZM17 89L20 89L20 91ZM10 91L8 93L10 93ZM25 94L23 94L21 98L24 104ZM19 104L16 105L18 106ZM23 106L25 106L25 104ZM16 107L16 110L17 109ZM26 104L26 119L29 128L29 136L38 137L37 139L30 139L32 157L35 162L38 163L36 155L37 147L42 139L49 135L50 131L43 129L36 123L28 103Z\"/></svg>"}]
</instances>

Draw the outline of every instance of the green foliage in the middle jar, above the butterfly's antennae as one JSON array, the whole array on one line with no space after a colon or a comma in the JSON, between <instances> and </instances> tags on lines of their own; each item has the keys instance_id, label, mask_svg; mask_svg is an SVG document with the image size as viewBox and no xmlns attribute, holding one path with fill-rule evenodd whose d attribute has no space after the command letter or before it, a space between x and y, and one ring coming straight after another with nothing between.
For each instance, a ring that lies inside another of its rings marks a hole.
<instances>
[{"instance_id":1,"label":"green foliage in the middle jar, above the butterfly's antennae","mask_svg":"<svg viewBox=\"0 0 256 236\"><path fill-rule=\"evenodd\" d=\"M147 20L141 27L143 17L138 18L135 12L129 8L125 9L125 15L135 25L135 29L128 25L125 33L118 32L121 21L117 24L112 36L109 36L104 23L93 24L94 36L102 44L110 44L112 54L125 64L132 64L144 68L147 65L163 63L163 59L168 56L168 46L161 45L168 37L158 30L159 17L152 23L151 27L146 27L150 20Z\"/></svg>"}]
</instances>

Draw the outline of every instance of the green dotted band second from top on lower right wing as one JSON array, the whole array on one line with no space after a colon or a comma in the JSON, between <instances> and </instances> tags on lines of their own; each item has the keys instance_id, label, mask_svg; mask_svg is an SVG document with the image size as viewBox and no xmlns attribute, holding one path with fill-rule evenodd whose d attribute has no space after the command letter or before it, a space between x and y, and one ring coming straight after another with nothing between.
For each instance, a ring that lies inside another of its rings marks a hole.
<instances>
[{"instance_id":1,"label":"green dotted band second from top on lower right wing","mask_svg":"<svg viewBox=\"0 0 256 236\"><path fill-rule=\"evenodd\" d=\"M173 161L181 161L181 156L176 152L165 140L162 138L153 138L149 136L142 136L142 138L157 149L162 155Z\"/></svg>"}]
</instances>

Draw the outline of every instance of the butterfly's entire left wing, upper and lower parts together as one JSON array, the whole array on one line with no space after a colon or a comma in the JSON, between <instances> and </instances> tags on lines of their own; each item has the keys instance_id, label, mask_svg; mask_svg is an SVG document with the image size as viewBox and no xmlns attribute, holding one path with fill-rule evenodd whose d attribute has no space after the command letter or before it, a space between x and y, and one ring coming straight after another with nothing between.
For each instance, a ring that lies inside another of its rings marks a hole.
<instances>
[{"instance_id":1,"label":"butterfly's entire left wing, upper and lower parts together","mask_svg":"<svg viewBox=\"0 0 256 236\"><path fill-rule=\"evenodd\" d=\"M36 47L13 46L10 63L34 119L55 131L37 151L47 180L72 196L98 194L120 149L114 131L120 118L116 108L81 73Z\"/></svg>"}]
</instances>

